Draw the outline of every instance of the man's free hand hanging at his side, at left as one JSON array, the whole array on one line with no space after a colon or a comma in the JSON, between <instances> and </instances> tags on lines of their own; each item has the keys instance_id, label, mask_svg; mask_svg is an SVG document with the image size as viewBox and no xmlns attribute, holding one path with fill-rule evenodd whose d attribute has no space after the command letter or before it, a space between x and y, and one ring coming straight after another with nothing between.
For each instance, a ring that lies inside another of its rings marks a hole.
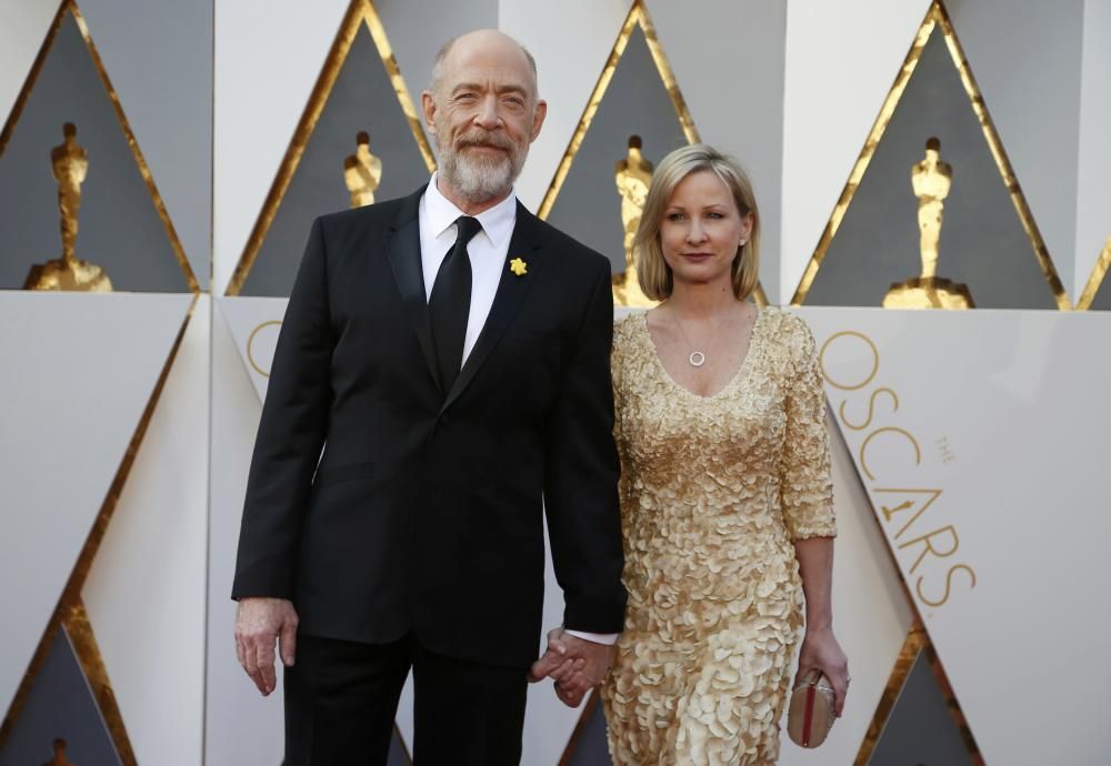
<instances>
[{"instance_id":1,"label":"man's free hand hanging at his side, at left","mask_svg":"<svg viewBox=\"0 0 1111 766\"><path fill-rule=\"evenodd\" d=\"M297 611L284 598L241 598L236 613L236 656L262 696L278 685L274 638L281 661L293 664L297 651Z\"/></svg>"}]
</instances>

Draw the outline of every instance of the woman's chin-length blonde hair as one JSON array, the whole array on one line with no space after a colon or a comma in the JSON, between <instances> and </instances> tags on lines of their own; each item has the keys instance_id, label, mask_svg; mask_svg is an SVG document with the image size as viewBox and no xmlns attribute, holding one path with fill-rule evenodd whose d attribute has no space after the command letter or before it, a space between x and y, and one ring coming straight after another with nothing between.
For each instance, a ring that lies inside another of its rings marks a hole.
<instances>
[{"instance_id":1,"label":"woman's chin-length blonde hair","mask_svg":"<svg viewBox=\"0 0 1111 766\"><path fill-rule=\"evenodd\" d=\"M752 182L732 157L704 143L692 143L674 150L660 161L652 175L652 184L648 189L644 210L633 240L640 289L653 301L667 300L674 289L671 266L664 260L663 248L660 245L660 226L668 201L683 179L703 170L709 170L721 179L732 193L733 202L742 216L752 213L752 233L737 249L731 272L737 298L748 298L757 286L760 268L760 212L757 210Z\"/></svg>"}]
</instances>

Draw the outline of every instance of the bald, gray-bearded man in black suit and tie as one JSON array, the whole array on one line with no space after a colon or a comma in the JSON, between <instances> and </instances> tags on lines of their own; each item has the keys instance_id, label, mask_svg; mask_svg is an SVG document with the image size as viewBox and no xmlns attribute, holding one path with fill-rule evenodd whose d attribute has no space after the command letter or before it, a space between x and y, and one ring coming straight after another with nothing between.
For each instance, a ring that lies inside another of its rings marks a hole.
<instances>
[{"instance_id":1,"label":"bald, gray-bearded man in black suit and tie","mask_svg":"<svg viewBox=\"0 0 1111 766\"><path fill-rule=\"evenodd\" d=\"M270 694L279 639L289 766L384 763L410 667L419 764L520 760L541 508L565 655L537 668L561 699L622 626L610 269L513 194L534 62L466 34L422 108L429 185L313 223L251 462L237 651Z\"/></svg>"}]
</instances>

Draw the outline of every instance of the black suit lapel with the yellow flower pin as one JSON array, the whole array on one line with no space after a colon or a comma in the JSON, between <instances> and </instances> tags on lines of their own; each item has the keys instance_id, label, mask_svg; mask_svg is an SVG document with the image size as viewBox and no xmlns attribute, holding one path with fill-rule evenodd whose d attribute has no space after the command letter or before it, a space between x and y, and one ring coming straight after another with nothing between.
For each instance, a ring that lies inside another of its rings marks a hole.
<instances>
[{"instance_id":1,"label":"black suit lapel with the yellow flower pin","mask_svg":"<svg viewBox=\"0 0 1111 766\"><path fill-rule=\"evenodd\" d=\"M510 320L521 308L529 288L539 279L538 272L542 270L540 258L541 232L540 225L528 210L520 202L517 203L517 223L513 226L513 236L509 241L509 252L506 263L502 264L501 280L498 282L498 292L494 294L493 305L490 306L490 315L487 318L482 332L474 342L474 347L463 363L463 369L459 371L459 377L443 401L443 410L454 402L459 394L474 377L474 373L482 366L490 352L498 344ZM510 270L513 259L521 259L526 263L527 273L518 276Z\"/></svg>"}]
</instances>

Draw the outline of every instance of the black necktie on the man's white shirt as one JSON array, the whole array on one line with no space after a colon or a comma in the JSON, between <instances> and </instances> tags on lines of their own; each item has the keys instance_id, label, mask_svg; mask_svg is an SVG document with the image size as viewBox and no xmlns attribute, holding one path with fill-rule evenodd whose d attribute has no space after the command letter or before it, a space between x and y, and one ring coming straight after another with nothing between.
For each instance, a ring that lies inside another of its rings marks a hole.
<instances>
[{"instance_id":1,"label":"black necktie on the man's white shirt","mask_svg":"<svg viewBox=\"0 0 1111 766\"><path fill-rule=\"evenodd\" d=\"M463 364L463 339L467 336L467 316L471 311L471 259L467 254L467 243L481 229L478 219L469 215L460 215L456 220L456 244L443 256L428 299L436 361L444 395L451 391Z\"/></svg>"}]
</instances>

